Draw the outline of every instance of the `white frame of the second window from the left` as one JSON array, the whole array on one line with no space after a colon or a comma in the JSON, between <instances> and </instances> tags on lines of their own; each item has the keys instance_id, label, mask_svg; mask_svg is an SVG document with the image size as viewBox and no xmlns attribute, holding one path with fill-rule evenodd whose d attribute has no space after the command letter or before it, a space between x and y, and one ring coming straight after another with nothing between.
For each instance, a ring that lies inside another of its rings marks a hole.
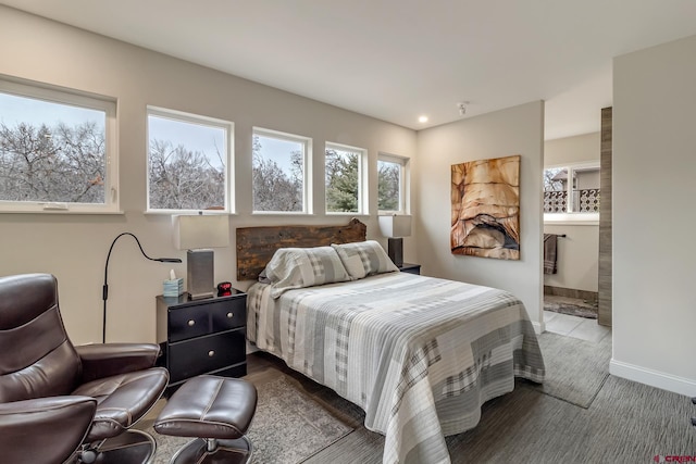
<instances>
[{"instance_id":1,"label":"white frame of the second window from the left","mask_svg":"<svg viewBox=\"0 0 696 464\"><path fill-rule=\"evenodd\" d=\"M199 209L159 209L150 208L150 115L161 118L167 118L181 123L188 123L201 126L216 127L225 130L225 140L223 142L225 149L225 187L224 187L224 201L222 210L206 210L210 214L234 214L235 197L234 197L234 138L235 138L235 125L231 121L220 120L216 117L204 116L201 114L195 114L178 110L172 110L162 106L147 105L146 109L146 214L191 214L199 212ZM207 213L208 214L208 213Z\"/></svg>"}]
</instances>

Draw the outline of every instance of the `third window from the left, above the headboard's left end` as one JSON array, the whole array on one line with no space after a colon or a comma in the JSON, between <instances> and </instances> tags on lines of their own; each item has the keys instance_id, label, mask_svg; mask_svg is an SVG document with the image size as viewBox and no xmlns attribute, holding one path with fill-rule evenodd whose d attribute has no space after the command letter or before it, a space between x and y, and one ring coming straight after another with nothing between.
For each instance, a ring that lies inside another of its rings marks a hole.
<instances>
[{"instance_id":1,"label":"third window from the left, above the headboard's left end","mask_svg":"<svg viewBox=\"0 0 696 464\"><path fill-rule=\"evenodd\" d=\"M253 128L253 212L308 212L311 139Z\"/></svg>"}]
</instances>

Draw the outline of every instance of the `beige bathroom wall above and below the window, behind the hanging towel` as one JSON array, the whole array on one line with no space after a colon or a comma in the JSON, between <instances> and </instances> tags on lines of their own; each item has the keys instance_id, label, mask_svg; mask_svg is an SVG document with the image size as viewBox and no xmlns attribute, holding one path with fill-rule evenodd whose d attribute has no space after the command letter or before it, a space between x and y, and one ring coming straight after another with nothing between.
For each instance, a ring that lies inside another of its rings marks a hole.
<instances>
[{"instance_id":1,"label":"beige bathroom wall above and below the window, behind the hanging towel","mask_svg":"<svg viewBox=\"0 0 696 464\"><path fill-rule=\"evenodd\" d=\"M597 118L601 114L597 111ZM547 140L544 166L599 162L599 133ZM577 225L545 223L545 234L566 234L558 240L558 273L545 274L544 285L597 291L599 273L599 223Z\"/></svg>"}]
</instances>

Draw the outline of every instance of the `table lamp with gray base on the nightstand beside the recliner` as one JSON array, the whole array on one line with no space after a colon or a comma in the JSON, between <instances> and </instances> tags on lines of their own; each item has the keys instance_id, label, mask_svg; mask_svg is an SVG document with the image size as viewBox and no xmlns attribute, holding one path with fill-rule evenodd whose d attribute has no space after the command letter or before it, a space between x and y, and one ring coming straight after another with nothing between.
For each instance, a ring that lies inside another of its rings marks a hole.
<instances>
[{"instance_id":1,"label":"table lamp with gray base on the nightstand beside the recliner","mask_svg":"<svg viewBox=\"0 0 696 464\"><path fill-rule=\"evenodd\" d=\"M229 218L220 214L173 216L174 246L186 251L186 287L191 300L215 294L211 248L229 246Z\"/></svg>"}]
</instances>

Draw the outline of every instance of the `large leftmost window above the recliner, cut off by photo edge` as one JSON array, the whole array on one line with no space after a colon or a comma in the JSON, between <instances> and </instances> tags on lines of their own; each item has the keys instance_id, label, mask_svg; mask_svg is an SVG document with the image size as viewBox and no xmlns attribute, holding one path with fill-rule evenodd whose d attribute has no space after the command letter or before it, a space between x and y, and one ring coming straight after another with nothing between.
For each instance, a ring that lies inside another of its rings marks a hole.
<instances>
[{"instance_id":1,"label":"large leftmost window above the recliner, cut off by photo edge","mask_svg":"<svg viewBox=\"0 0 696 464\"><path fill-rule=\"evenodd\" d=\"M119 211L116 103L0 79L0 211Z\"/></svg>"}]
</instances>

